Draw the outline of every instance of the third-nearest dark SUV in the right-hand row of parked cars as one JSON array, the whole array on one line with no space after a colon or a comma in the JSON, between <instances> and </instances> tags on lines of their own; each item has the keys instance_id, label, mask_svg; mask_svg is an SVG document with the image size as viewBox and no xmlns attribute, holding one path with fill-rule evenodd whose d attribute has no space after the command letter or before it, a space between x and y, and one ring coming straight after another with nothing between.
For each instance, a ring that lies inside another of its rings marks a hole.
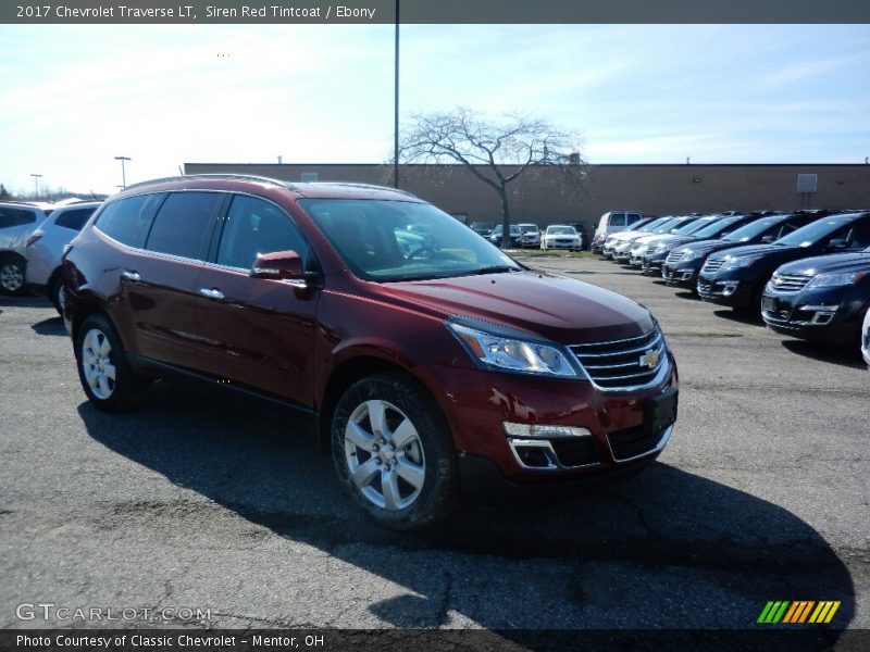
<instances>
[{"instance_id":1,"label":"third-nearest dark SUV in the right-hand row of parked cars","mask_svg":"<svg viewBox=\"0 0 870 652\"><path fill-rule=\"evenodd\" d=\"M711 253L744 244L773 242L831 214L831 211L798 211L783 215L768 215L745 224L719 239L692 241L668 254L661 268L661 276L669 286L691 288L695 291L698 273Z\"/></svg>"}]
</instances>

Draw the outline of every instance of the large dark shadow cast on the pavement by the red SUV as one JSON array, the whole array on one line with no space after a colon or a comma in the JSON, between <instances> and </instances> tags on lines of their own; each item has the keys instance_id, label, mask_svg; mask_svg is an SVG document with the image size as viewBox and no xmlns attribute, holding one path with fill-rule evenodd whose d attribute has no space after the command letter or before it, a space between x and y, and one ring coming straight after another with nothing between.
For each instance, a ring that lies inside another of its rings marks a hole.
<instances>
[{"instance_id":1,"label":"large dark shadow cast on the pavement by the red SUV","mask_svg":"<svg viewBox=\"0 0 870 652\"><path fill-rule=\"evenodd\" d=\"M667 464L559 503L464 504L428 531L400 534L345 496L310 423L256 399L182 387L158 383L132 413L78 408L94 440L204 499L178 491L194 503L177 509L116 497L114 527L147 518L156 531L202 536L224 511L241 516L401 587L365 607L386 626L449 627L459 614L508 639L515 630L518 641L524 629L749 629L770 600L841 600L835 624L854 616L849 573L812 527ZM197 519L198 510L207 515ZM838 636L815 632L811 649Z\"/></svg>"}]
</instances>

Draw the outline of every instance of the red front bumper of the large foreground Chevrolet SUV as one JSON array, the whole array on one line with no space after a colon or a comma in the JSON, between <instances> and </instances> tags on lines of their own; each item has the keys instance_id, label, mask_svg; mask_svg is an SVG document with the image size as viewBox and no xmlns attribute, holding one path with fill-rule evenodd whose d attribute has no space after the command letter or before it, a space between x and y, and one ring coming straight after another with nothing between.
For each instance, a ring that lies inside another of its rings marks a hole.
<instances>
[{"instance_id":1,"label":"red front bumper of the large foreground Chevrolet SUV","mask_svg":"<svg viewBox=\"0 0 870 652\"><path fill-rule=\"evenodd\" d=\"M443 389L442 408L460 459L481 457L509 484L561 484L608 476L655 459L673 422L654 423L650 405L671 400L676 367L651 387L602 391L587 380L560 380L456 367L428 368ZM447 400L449 398L449 400ZM669 403L670 404L670 403ZM506 434L505 424L570 426L583 435ZM661 427L659 427L661 426Z\"/></svg>"}]
</instances>

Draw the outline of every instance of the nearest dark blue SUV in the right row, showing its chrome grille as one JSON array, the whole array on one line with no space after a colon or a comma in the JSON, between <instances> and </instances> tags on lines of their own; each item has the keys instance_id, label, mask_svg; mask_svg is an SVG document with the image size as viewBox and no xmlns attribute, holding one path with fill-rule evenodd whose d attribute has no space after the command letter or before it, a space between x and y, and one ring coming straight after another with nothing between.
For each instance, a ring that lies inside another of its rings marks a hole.
<instances>
[{"instance_id":1,"label":"nearest dark blue SUV in the right row, showing its chrome grille","mask_svg":"<svg viewBox=\"0 0 870 652\"><path fill-rule=\"evenodd\" d=\"M761 316L783 335L832 344L860 343L870 306L870 248L782 265L761 294Z\"/></svg>"}]
</instances>

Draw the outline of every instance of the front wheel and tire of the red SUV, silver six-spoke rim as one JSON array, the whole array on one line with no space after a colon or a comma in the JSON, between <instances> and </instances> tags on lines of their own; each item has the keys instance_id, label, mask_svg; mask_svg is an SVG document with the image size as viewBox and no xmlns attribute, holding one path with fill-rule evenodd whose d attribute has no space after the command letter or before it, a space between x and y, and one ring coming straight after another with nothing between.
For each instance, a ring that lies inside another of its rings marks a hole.
<instances>
[{"instance_id":1,"label":"front wheel and tire of the red SUV, silver six-spoke rim","mask_svg":"<svg viewBox=\"0 0 870 652\"><path fill-rule=\"evenodd\" d=\"M453 506L459 474L449 429L428 392L403 374L347 389L333 414L332 452L341 482L378 525L420 529Z\"/></svg>"}]
</instances>

